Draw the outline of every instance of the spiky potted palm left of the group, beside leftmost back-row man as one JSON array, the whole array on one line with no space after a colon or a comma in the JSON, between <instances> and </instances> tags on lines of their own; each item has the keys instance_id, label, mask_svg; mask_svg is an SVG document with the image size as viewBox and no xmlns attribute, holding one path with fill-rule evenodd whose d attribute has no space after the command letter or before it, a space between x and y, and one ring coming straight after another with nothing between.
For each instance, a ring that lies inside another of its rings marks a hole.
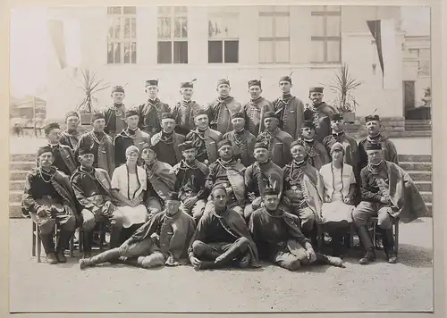
<instances>
[{"instance_id":1,"label":"spiky potted palm left of the group, beside leftmost back-row man","mask_svg":"<svg viewBox=\"0 0 447 318\"><path fill-rule=\"evenodd\" d=\"M109 83L104 83L104 79L97 79L95 71L80 70L79 83L76 85L84 93L84 97L76 106L76 111L80 113L80 124L89 125L93 113L97 113L97 97L96 94L105 88L109 88Z\"/></svg>"}]
</instances>

